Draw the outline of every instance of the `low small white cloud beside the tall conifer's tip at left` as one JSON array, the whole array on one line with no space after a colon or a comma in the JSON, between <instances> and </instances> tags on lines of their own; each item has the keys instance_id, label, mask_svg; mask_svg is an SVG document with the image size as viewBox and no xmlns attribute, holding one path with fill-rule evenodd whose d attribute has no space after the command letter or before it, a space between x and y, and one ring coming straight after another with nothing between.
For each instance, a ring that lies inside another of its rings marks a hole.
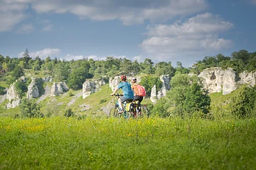
<instances>
[{"instance_id":1,"label":"low small white cloud beside the tall conifer's tip at left","mask_svg":"<svg viewBox=\"0 0 256 170\"><path fill-rule=\"evenodd\" d=\"M61 52L60 49L58 48L45 48L40 51L34 51L34 52L29 52L29 56L32 58L35 58L39 56L41 59L46 59L46 57L55 57L55 55L59 55ZM18 57L22 57L24 52L18 53Z\"/></svg>"}]
</instances>

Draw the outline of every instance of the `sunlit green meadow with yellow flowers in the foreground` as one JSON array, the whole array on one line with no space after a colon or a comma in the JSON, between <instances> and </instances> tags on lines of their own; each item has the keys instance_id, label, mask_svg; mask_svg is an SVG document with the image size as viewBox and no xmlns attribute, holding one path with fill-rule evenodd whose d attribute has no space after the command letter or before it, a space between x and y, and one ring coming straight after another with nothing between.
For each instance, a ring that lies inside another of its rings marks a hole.
<instances>
[{"instance_id":1,"label":"sunlit green meadow with yellow flowers in the foreground","mask_svg":"<svg viewBox=\"0 0 256 170\"><path fill-rule=\"evenodd\" d=\"M256 120L0 118L0 169L255 169Z\"/></svg>"}]
</instances>

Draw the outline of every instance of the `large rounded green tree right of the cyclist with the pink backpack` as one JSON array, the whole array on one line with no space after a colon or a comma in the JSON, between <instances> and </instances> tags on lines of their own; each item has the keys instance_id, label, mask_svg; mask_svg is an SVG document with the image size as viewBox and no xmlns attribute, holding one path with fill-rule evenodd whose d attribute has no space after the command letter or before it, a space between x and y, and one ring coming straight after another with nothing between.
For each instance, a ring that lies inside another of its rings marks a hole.
<instances>
[{"instance_id":1,"label":"large rounded green tree right of the cyclist with the pink backpack","mask_svg":"<svg viewBox=\"0 0 256 170\"><path fill-rule=\"evenodd\" d=\"M210 97L207 91L202 90L200 82L197 76L189 77L188 74L176 74L171 79L171 90L168 91L167 97L170 98L170 105L175 106L174 113L208 113Z\"/></svg>"}]
</instances>

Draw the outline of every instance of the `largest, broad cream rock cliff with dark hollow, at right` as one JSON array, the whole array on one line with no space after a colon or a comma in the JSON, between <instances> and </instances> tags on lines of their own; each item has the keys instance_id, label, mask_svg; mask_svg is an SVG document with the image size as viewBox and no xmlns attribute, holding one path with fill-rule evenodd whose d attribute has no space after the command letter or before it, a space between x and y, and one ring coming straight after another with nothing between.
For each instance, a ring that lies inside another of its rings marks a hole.
<instances>
[{"instance_id":1,"label":"largest, broad cream rock cliff with dark hollow, at right","mask_svg":"<svg viewBox=\"0 0 256 170\"><path fill-rule=\"evenodd\" d=\"M230 94L237 89L236 74L232 68L221 69L219 67L204 69L198 77L203 78L203 86L209 93L223 91L223 95Z\"/></svg>"}]
</instances>

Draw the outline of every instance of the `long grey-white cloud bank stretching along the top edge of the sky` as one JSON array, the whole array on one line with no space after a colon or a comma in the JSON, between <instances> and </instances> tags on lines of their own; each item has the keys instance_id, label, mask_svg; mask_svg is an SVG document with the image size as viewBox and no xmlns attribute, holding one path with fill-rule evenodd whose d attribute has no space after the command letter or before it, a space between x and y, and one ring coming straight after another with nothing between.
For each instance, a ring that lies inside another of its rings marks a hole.
<instances>
[{"instance_id":1,"label":"long grey-white cloud bank stretching along the top edge of the sky","mask_svg":"<svg viewBox=\"0 0 256 170\"><path fill-rule=\"evenodd\" d=\"M32 8L37 13L73 13L80 18L95 21L119 19L125 25L166 21L174 16L188 15L207 7L205 0L149 0L149 1L33 1Z\"/></svg>"}]
</instances>

